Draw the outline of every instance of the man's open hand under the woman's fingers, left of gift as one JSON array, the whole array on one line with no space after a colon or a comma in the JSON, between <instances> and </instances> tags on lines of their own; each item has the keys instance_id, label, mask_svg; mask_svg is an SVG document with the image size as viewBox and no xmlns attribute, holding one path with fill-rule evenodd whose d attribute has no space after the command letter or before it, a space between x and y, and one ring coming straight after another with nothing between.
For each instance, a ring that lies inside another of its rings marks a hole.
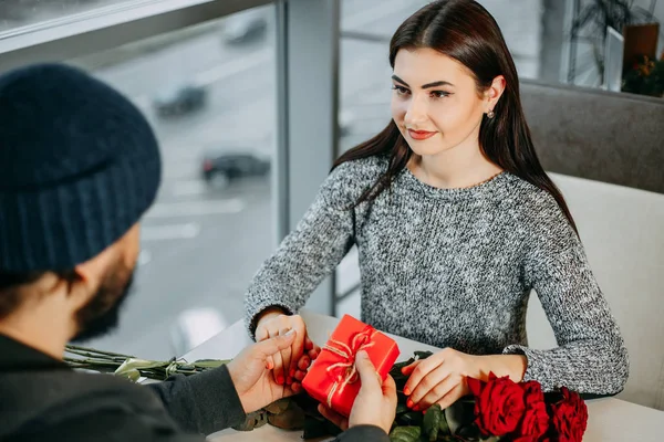
<instances>
[{"instance_id":1,"label":"man's open hand under the woman's fingers, left of gift","mask_svg":"<svg viewBox=\"0 0 664 442\"><path fill-rule=\"evenodd\" d=\"M278 385L272 376L272 358L290 348L297 338L298 333L291 329L281 336L247 347L228 364L230 378L246 413L301 391L302 386L299 382L290 386ZM300 364L304 366L302 360Z\"/></svg>"}]
</instances>

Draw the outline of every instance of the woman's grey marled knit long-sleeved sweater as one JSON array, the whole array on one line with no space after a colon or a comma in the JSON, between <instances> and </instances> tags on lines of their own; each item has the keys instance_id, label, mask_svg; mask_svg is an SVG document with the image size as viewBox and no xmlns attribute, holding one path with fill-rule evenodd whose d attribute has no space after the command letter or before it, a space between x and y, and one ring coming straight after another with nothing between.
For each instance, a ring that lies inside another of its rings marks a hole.
<instances>
[{"instance_id":1,"label":"woman's grey marled knit long-sleeved sweater","mask_svg":"<svg viewBox=\"0 0 664 442\"><path fill-rule=\"evenodd\" d=\"M270 306L295 313L356 244L362 320L474 355L522 354L525 380L616 393L627 352L583 246L556 200L504 172L467 189L438 189L405 169L376 200L352 204L386 170L382 157L338 167L313 204L256 274L250 330ZM528 347L535 290L558 348Z\"/></svg>"}]
</instances>

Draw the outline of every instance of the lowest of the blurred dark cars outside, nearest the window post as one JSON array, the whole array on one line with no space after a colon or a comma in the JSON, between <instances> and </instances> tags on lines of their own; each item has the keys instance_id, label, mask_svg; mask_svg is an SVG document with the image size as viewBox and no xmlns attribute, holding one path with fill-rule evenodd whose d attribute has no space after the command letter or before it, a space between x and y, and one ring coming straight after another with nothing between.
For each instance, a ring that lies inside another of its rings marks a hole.
<instances>
[{"instance_id":1,"label":"lowest of the blurred dark cars outside, nearest the window post","mask_svg":"<svg viewBox=\"0 0 664 442\"><path fill-rule=\"evenodd\" d=\"M253 152L207 152L203 159L203 179L216 189L247 177L262 177L270 171L269 159Z\"/></svg>"}]
</instances>

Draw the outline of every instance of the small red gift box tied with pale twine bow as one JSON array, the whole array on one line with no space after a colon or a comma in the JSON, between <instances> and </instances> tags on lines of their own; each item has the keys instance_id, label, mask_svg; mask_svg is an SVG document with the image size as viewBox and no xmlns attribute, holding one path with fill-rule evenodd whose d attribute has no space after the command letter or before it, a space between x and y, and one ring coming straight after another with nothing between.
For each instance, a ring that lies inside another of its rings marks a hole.
<instances>
[{"instance_id":1,"label":"small red gift box tied with pale twine bow","mask_svg":"<svg viewBox=\"0 0 664 442\"><path fill-rule=\"evenodd\" d=\"M394 339L344 315L302 380L309 396L349 417L360 392L360 376L355 370L355 355L360 350L366 351L383 379L400 355Z\"/></svg>"}]
</instances>

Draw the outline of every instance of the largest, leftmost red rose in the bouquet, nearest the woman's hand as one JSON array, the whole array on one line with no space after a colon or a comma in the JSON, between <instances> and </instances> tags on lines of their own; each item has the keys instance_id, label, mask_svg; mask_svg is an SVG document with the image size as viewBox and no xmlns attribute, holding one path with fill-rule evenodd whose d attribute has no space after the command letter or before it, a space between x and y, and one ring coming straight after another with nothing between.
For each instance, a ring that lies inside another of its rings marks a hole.
<instances>
[{"instance_id":1,"label":"largest, leftmost red rose in the bouquet, nearest the woman's hand","mask_svg":"<svg viewBox=\"0 0 664 442\"><path fill-rule=\"evenodd\" d=\"M526 410L521 385L491 372L488 382L468 379L468 387L475 394L475 422L484 434L500 436L516 430Z\"/></svg>"}]
</instances>

